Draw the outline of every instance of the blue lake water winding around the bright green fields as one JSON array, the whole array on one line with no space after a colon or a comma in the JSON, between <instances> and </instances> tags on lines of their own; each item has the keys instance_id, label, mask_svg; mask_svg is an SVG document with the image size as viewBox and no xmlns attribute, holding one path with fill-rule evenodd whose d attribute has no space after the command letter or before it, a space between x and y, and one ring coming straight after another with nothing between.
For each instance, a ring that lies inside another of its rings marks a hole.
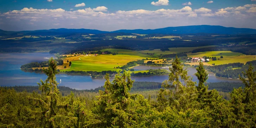
<instances>
[{"instance_id":1,"label":"blue lake water winding around the bright green fields","mask_svg":"<svg viewBox=\"0 0 256 128\"><path fill-rule=\"evenodd\" d=\"M46 79L46 75L43 73L35 72L23 72L20 70L20 66L30 62L42 62L48 59L44 57L54 57L54 55L48 52L36 52L36 53L0 53L0 86L37 86L37 82L40 79L43 81ZM135 70L146 69L163 69L155 66L136 66ZM198 81L193 74L196 72L195 68L187 68L188 75L193 77L193 81ZM60 83L60 79L62 82ZM162 82L168 79L168 75L161 76L138 76L132 77L135 81L148 81L148 82ZM88 75L66 75L59 74L56 76L56 80L59 85L70 87L73 89L94 89L104 85L105 79L92 79ZM112 80L112 79L111 79ZM238 79L227 79L214 76L214 73L209 72L209 78L207 82L241 82Z\"/></svg>"}]
</instances>

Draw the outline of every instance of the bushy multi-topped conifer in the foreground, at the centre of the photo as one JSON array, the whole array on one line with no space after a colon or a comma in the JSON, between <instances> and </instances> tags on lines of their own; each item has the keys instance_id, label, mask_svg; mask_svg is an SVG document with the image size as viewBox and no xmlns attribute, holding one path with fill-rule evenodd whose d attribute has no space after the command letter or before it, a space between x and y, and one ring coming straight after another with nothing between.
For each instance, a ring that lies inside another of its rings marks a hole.
<instances>
[{"instance_id":1,"label":"bushy multi-topped conifer in the foreground, at the centre of the photo","mask_svg":"<svg viewBox=\"0 0 256 128\"><path fill-rule=\"evenodd\" d=\"M100 91L97 97L96 111L101 123L96 127L124 127L124 122L129 121L128 107L136 95L130 95L128 92L133 82L130 73L123 71L123 74L117 73L113 82L109 81L109 75L105 75L106 82L104 91Z\"/></svg>"}]
</instances>

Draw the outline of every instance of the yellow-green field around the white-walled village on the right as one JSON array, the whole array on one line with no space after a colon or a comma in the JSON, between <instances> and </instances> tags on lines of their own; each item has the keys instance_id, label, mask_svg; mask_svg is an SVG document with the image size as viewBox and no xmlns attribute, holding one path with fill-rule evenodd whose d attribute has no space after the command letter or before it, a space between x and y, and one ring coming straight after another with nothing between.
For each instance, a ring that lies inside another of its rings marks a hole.
<instances>
[{"instance_id":1,"label":"yellow-green field around the white-walled village on the right","mask_svg":"<svg viewBox=\"0 0 256 128\"><path fill-rule=\"evenodd\" d=\"M256 60L256 55L243 55L239 52L231 52L231 51L211 51L211 52L199 52L199 53L190 53L188 57L216 57L217 60L213 61L210 59L208 64L220 65L220 64L228 64L228 63L246 63L248 61ZM223 56L223 58L220 58ZM218 60L218 58L220 60Z\"/></svg>"}]
</instances>

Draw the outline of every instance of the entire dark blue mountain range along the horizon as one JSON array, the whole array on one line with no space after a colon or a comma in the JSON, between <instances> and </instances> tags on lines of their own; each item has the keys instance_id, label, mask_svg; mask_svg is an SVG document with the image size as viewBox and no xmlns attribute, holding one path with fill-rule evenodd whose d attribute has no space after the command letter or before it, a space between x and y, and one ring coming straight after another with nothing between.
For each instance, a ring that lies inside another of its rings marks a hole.
<instances>
[{"instance_id":1,"label":"entire dark blue mountain range along the horizon","mask_svg":"<svg viewBox=\"0 0 256 128\"><path fill-rule=\"evenodd\" d=\"M50 30L34 30L34 31L4 31L0 30L0 35L6 34L31 34L31 35L51 35L51 34L68 34L68 33L90 33L90 34L101 34L101 33L137 33L137 34L197 34L197 33L209 33L209 34L256 34L256 29L251 28L235 28L235 27L223 27L223 26L212 26L212 25L195 25L195 26L179 26L179 27L165 27L158 29L136 29L136 30L117 30L112 32L91 30L91 29L50 29Z\"/></svg>"}]
</instances>

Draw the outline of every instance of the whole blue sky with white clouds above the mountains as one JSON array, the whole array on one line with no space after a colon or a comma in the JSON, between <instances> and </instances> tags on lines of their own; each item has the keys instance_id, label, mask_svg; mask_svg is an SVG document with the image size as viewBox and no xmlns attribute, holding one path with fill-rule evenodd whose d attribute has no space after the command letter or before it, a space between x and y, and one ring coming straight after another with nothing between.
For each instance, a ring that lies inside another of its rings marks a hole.
<instances>
[{"instance_id":1,"label":"whole blue sky with white clouds above the mountains","mask_svg":"<svg viewBox=\"0 0 256 128\"><path fill-rule=\"evenodd\" d=\"M256 0L0 0L6 31L220 25L256 29Z\"/></svg>"}]
</instances>

